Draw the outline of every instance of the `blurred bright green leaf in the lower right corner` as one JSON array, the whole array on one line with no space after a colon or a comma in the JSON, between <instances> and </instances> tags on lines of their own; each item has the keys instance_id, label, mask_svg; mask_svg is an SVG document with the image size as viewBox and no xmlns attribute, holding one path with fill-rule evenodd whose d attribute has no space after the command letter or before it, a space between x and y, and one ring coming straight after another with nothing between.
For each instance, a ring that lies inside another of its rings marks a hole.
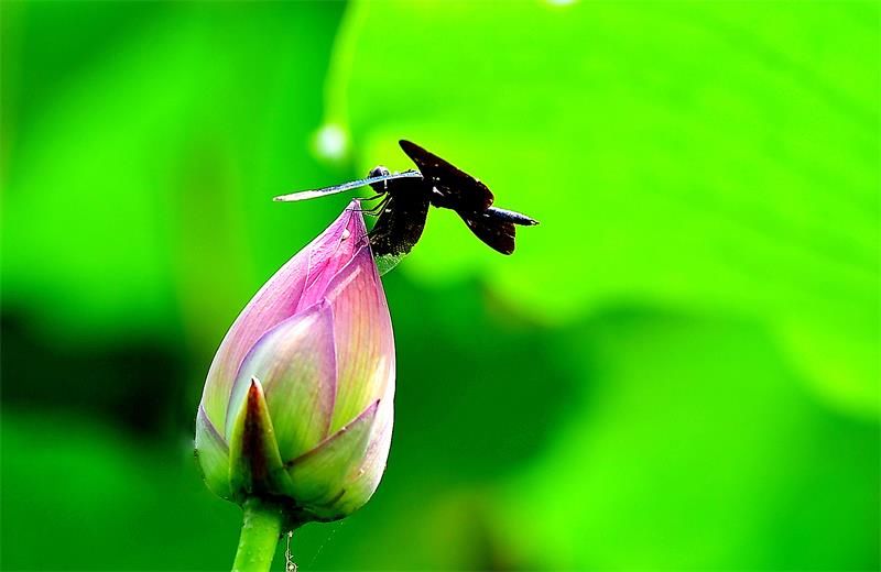
<instances>
[{"instance_id":1,"label":"blurred bright green leaf in the lower right corner","mask_svg":"<svg viewBox=\"0 0 881 572\"><path fill-rule=\"evenodd\" d=\"M878 570L878 425L798 392L755 326L635 312L581 331L581 413L499 503L526 561Z\"/></svg>"}]
</instances>

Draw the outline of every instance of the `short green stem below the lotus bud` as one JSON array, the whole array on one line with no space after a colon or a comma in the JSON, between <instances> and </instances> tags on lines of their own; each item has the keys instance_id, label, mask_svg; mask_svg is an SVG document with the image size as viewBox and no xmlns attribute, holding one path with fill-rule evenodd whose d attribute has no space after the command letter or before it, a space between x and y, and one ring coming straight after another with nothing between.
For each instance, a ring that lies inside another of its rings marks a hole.
<instances>
[{"instance_id":1,"label":"short green stem below the lotus bud","mask_svg":"<svg viewBox=\"0 0 881 572\"><path fill-rule=\"evenodd\" d=\"M265 572L275 556L284 513L278 505L251 497L242 505L243 519L233 572Z\"/></svg>"}]
</instances>

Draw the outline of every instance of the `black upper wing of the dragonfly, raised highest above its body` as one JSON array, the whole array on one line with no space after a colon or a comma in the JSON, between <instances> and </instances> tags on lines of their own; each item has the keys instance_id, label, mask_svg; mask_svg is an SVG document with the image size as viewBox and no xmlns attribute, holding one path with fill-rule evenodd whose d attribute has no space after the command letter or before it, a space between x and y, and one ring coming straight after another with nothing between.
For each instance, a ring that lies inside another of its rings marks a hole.
<instances>
[{"instance_id":1,"label":"black upper wing of the dragonfly, raised highest above its body","mask_svg":"<svg viewBox=\"0 0 881 572\"><path fill-rule=\"evenodd\" d=\"M486 210L492 205L492 193L480 180L415 143L406 140L399 143L425 180L448 199L449 208Z\"/></svg>"}]
</instances>

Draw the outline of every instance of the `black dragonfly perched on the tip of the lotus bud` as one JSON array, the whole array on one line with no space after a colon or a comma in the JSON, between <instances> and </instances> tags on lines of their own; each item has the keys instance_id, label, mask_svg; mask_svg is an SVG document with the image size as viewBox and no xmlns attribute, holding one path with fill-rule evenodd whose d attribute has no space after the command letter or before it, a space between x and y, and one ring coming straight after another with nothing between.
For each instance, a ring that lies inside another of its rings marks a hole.
<instances>
[{"instance_id":1,"label":"black dragonfly perched on the tip of the lotus bud","mask_svg":"<svg viewBox=\"0 0 881 572\"><path fill-rule=\"evenodd\" d=\"M410 141L401 140L400 144L418 170L390 173L378 166L367 178L273 200L306 200L370 185L377 195L365 200L380 199L367 210L378 217L370 232L370 245L377 256L401 257L409 253L422 237L429 205L455 210L478 239L502 254L514 252L515 226L539 223L520 212L493 207L492 193L486 185L434 153Z\"/></svg>"}]
</instances>

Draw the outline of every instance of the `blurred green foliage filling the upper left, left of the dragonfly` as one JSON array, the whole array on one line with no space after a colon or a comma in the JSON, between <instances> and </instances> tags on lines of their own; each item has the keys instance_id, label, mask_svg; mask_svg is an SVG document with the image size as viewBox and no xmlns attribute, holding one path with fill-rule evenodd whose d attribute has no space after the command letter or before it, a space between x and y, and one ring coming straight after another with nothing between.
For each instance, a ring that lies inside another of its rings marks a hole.
<instances>
[{"instance_id":1,"label":"blurred green foliage filling the upper left, left of the dragonfly","mask_svg":"<svg viewBox=\"0 0 881 572\"><path fill-rule=\"evenodd\" d=\"M130 33L97 37L94 6L15 11L28 37L64 28L57 47L83 61L57 81L33 70L63 54L8 40L24 119L3 133L7 304L36 306L68 340L161 332L183 314L213 348L334 210L270 199L323 173L306 151L342 4L144 4ZM126 9L98 12L127 25ZM77 18L89 25L72 30Z\"/></svg>"}]
</instances>

